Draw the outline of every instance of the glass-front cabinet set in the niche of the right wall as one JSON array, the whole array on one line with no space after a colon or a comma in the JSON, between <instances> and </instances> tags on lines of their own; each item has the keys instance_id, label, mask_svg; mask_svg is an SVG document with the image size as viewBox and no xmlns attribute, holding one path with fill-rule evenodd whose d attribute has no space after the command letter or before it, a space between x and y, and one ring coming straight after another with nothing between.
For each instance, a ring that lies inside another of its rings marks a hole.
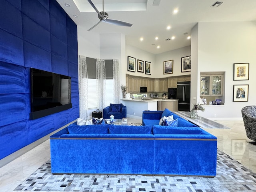
<instances>
[{"instance_id":1,"label":"glass-front cabinet set in the niche of the right wall","mask_svg":"<svg viewBox=\"0 0 256 192\"><path fill-rule=\"evenodd\" d=\"M200 96L223 96L224 72L200 74Z\"/></svg>"}]
</instances>

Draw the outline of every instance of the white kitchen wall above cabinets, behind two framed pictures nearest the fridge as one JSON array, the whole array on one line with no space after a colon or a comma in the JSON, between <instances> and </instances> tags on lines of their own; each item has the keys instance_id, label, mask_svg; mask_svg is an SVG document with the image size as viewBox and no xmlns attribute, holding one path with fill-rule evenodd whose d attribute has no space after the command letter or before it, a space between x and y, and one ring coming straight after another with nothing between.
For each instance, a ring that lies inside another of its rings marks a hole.
<instances>
[{"instance_id":1,"label":"white kitchen wall above cabinets, behind two framed pictures nearest the fridge","mask_svg":"<svg viewBox=\"0 0 256 192\"><path fill-rule=\"evenodd\" d=\"M156 64L154 65L154 78L163 78L169 76L190 75L190 72L181 72L181 58L190 56L190 46L182 47L176 50L164 52L156 55ZM173 60L173 73L164 74L164 61Z\"/></svg>"}]
</instances>

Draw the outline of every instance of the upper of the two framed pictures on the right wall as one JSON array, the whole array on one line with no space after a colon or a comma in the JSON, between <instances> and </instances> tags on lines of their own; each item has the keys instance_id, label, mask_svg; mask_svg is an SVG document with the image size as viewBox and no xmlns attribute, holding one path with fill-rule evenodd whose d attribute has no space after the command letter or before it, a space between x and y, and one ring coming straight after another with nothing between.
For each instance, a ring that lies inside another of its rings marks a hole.
<instances>
[{"instance_id":1,"label":"upper of the two framed pictures on the right wall","mask_svg":"<svg viewBox=\"0 0 256 192\"><path fill-rule=\"evenodd\" d=\"M234 63L234 81L249 80L249 63Z\"/></svg>"}]
</instances>

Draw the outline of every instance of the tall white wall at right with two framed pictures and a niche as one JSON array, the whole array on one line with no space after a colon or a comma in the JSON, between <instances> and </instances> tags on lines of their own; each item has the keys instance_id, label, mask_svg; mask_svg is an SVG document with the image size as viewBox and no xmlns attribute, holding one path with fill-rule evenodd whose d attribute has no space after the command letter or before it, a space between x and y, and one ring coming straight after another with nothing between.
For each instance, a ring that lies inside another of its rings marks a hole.
<instances>
[{"instance_id":1,"label":"tall white wall at right with two framed pictures and a niche","mask_svg":"<svg viewBox=\"0 0 256 192\"><path fill-rule=\"evenodd\" d=\"M199 22L198 73L225 71L225 105L206 106L204 117L241 118L244 106L256 104L255 22ZM192 36L192 38L194 38ZM192 45L193 46L193 45ZM250 63L249 80L233 81L234 63ZM197 80L198 82L200 79ZM233 102L233 85L249 84L248 102ZM199 89L197 89L199 95Z\"/></svg>"}]
</instances>

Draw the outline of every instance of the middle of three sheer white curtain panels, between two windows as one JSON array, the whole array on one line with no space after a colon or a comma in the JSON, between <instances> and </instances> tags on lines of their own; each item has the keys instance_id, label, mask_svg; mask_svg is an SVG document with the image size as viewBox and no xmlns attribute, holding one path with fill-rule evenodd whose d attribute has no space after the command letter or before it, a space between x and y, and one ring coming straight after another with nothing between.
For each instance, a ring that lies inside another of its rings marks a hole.
<instances>
[{"instance_id":1,"label":"middle of three sheer white curtain panels, between two windows","mask_svg":"<svg viewBox=\"0 0 256 192\"><path fill-rule=\"evenodd\" d=\"M96 79L97 79L97 106L99 110L106 107L106 68L105 60L96 60Z\"/></svg>"}]
</instances>

